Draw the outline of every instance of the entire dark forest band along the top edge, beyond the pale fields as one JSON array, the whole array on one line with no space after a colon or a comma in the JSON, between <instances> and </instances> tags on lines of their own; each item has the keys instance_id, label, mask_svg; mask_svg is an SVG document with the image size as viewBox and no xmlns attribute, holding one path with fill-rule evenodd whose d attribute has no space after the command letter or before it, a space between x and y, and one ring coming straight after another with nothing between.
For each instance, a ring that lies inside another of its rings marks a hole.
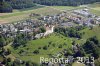
<instances>
[{"instance_id":1,"label":"entire dark forest band along the top edge, beyond the pale fields","mask_svg":"<svg viewBox=\"0 0 100 66\"><path fill-rule=\"evenodd\" d=\"M100 2L100 0L0 0L0 12L12 12L12 9L23 9L35 6L34 3L49 6L78 6Z\"/></svg>"}]
</instances>

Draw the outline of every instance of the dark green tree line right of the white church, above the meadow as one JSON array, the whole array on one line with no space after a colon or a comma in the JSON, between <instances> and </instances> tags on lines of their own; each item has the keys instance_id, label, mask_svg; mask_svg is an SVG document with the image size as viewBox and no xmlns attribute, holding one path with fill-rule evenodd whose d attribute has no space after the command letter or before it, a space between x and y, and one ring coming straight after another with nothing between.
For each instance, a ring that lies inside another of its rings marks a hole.
<instances>
[{"instance_id":1,"label":"dark green tree line right of the white church, above the meadow","mask_svg":"<svg viewBox=\"0 0 100 66\"><path fill-rule=\"evenodd\" d=\"M82 35L84 33L80 33L80 30L83 30L85 27L84 26L76 26L76 27L71 27L71 28L63 28L63 27L57 27L55 28L55 32L60 33L66 37L74 37L74 38L82 38Z\"/></svg>"}]
</instances>

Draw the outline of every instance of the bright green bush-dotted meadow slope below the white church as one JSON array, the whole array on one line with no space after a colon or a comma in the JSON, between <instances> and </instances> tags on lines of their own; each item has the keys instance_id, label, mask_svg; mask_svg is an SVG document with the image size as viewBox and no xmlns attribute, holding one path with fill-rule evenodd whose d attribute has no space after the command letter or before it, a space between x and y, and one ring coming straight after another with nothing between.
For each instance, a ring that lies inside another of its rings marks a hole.
<instances>
[{"instance_id":1,"label":"bright green bush-dotted meadow slope below the white church","mask_svg":"<svg viewBox=\"0 0 100 66\"><path fill-rule=\"evenodd\" d=\"M48 47L47 50L43 49L43 46L47 45L48 46L48 42L52 42L51 45ZM67 45L64 45L64 43L66 43ZM55 45L55 46L53 46ZM58 48L59 45L62 45L63 48ZM34 62L39 62L39 58L40 57L49 57L49 54L55 55L58 52L61 52L63 49L69 49L71 48L71 39L64 37L62 35L56 35L56 34L52 34L51 36L47 37L47 38L42 38L42 39L38 39L38 40L32 40L29 41L27 43L26 47L18 47L18 49L14 49L11 46L9 47L12 51L12 55L14 57L20 58L22 60L28 61L34 61ZM39 49L39 54L33 54L34 50L38 49L39 47L42 47L41 49ZM27 50L28 49L28 50ZM20 50L25 50L24 53L22 53L22 56L20 56L18 53L20 52ZM11 55L11 56L12 56Z\"/></svg>"}]
</instances>

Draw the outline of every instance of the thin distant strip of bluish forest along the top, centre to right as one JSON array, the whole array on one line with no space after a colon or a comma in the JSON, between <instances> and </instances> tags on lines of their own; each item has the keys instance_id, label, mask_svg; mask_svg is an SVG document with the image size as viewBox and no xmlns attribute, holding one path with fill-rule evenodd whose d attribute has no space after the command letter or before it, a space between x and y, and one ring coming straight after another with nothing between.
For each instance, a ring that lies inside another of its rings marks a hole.
<instances>
[{"instance_id":1,"label":"thin distant strip of bluish forest along the top, centre to right","mask_svg":"<svg viewBox=\"0 0 100 66\"><path fill-rule=\"evenodd\" d=\"M100 2L100 0L33 0L33 2L49 6L52 5L78 6L82 4Z\"/></svg>"}]
</instances>

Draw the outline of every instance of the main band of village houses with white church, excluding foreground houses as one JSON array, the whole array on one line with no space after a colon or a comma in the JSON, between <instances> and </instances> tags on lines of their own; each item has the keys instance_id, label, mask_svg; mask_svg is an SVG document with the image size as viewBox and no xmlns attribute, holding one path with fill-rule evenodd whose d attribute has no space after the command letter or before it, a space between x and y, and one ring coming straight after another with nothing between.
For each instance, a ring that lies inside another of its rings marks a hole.
<instances>
[{"instance_id":1,"label":"main band of village houses with white church, excluding foreground houses","mask_svg":"<svg viewBox=\"0 0 100 66\"><path fill-rule=\"evenodd\" d=\"M31 14L34 15L34 14ZM34 38L40 38L53 32L54 26L73 27L76 25L95 26L99 25L100 17L90 14L88 9L74 10L71 14L62 12L53 16L43 16L39 20L26 19L15 23L1 24L0 33L6 37L15 37L17 32L33 33L39 31L39 27L43 26L45 33L38 33Z\"/></svg>"}]
</instances>

